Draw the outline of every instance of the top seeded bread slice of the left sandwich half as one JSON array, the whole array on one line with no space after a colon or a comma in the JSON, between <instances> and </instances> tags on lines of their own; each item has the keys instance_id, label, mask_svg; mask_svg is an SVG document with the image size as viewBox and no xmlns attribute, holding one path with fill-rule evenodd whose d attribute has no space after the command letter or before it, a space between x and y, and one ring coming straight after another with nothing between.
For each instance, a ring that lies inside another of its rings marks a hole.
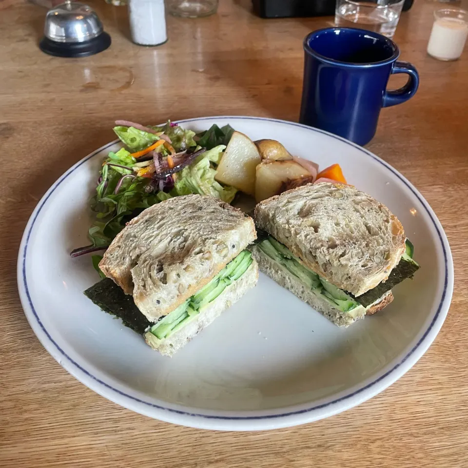
<instances>
[{"instance_id":1,"label":"top seeded bread slice of the left sandwich half","mask_svg":"<svg viewBox=\"0 0 468 468\"><path fill-rule=\"evenodd\" d=\"M208 195L170 198L147 208L117 235L101 271L149 321L172 312L256 238L254 221Z\"/></svg>"}]
</instances>

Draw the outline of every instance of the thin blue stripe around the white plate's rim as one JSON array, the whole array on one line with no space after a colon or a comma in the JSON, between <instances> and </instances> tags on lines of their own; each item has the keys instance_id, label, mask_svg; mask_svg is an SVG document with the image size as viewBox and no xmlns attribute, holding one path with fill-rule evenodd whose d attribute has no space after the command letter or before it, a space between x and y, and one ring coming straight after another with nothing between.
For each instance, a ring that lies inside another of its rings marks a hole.
<instances>
[{"instance_id":1,"label":"thin blue stripe around the white plate's rim","mask_svg":"<svg viewBox=\"0 0 468 468\"><path fill-rule=\"evenodd\" d=\"M30 235L31 235L31 232L33 230L33 227L34 227L34 224L36 222L36 219L38 218L39 216L39 213L40 211L42 210L42 208L44 207L45 203L47 202L47 200L49 199L49 197L54 193L54 191L57 189L57 187L59 187L59 185L70 175L72 174L76 169L78 169L78 167L80 167L82 164L84 164L86 161L88 161L89 159L91 159L92 157L96 156L98 153L100 153L101 151L105 150L106 148L114 145L118 140L115 140L103 147L101 147L100 149L96 150L95 152L91 153L88 157L84 158L82 161L80 161L76 166L74 166L73 168L71 168L68 172L66 172L59 180L57 180L57 182L51 187L50 189L50 192L47 194L47 196L43 199L41 205L39 206L39 209L37 209L36 211L36 214L34 215L34 218L32 220L32 223L31 223L31 226L29 228L29 231L28 231L28 234L27 234L27 237L26 237L26 242L24 244L24 250L23 250L23 257L22 257L22 276L23 276L23 284L24 284L24 288L25 288L25 291L26 291L26 295L27 295L27 298L28 298L28 301L29 301L29 306L31 307L31 310L33 311L34 313L34 316L40 326L40 328L44 331L44 333L46 334L47 338L50 340L51 343L53 343L53 345L57 348L57 350L64 356L68 359L68 361L70 361L74 366L76 366L79 370L81 370L84 374L86 374L87 376L91 377L93 380L95 380L96 382L98 382L99 384L103 385L104 387L108 388L109 390L113 390L115 391L116 393L118 393L119 395L122 395L122 396L125 396L137 403L142 403L144 405L147 405L147 406L150 406L152 408L156 408L156 409L163 409L165 411L169 411L169 412L172 412L172 413L177 413L177 414L182 414L182 415L186 415L186 416L195 416L195 417L199 417L199 418L207 418L207 419L220 419L220 420L226 420L226 421L229 421L229 420L244 420L244 421L247 421L247 420L262 420L262 419L277 419L277 418L284 418L284 417L287 417L287 416L292 416L292 415L296 415L296 414L303 414L303 413L308 413L308 412L311 412L311 411L314 411L314 410L317 410L317 409L323 409L323 408L326 408L326 407L329 407L331 405L334 405L336 403L339 403L339 402L342 402L344 400L348 400L349 398L359 394L359 393L362 393L364 390L367 390L367 389L370 389L371 387L373 387L375 384L377 384L378 382L380 382L381 380L383 380L384 378L386 378L388 375L390 375L394 370L396 370L397 368L399 368L408 358L411 354L413 354L414 351L416 351L419 346L421 345L421 343L425 340L426 336L428 335L429 331L432 329L432 327L434 326L435 322L437 321L437 318L439 317L439 314L440 314L440 311L442 309L442 305L444 303L444 300L446 298L446 295L447 295L447 288L448 288L448 261L447 261L447 251L446 251L446 248L445 248L445 244L444 244L444 240L442 238L442 234L440 233L440 230L439 230L439 227L437 226L437 223L436 221L434 220L432 214L430 213L430 211L428 210L427 206L426 206L426 203L424 203L424 201L419 197L419 195L414 191L414 189L409 185L409 183L395 170L393 169L389 164L387 164L385 161L381 160L380 158L376 157L375 155L373 155L372 153L370 153L370 151L367 151L365 148L362 148L358 145L355 145L354 143L352 143L351 141L348 141L348 140L345 140L341 137L337 137L336 135L332 135L328 132L325 132L323 130L319 130L319 129L316 129L316 128L312 128L312 127L308 127L307 125L302 125L302 124L299 124L299 123L295 123L295 122L288 122L288 121L285 121L285 120L280 120L280 119L273 119L273 118L264 118L264 117L243 117L243 116L223 116L223 117L199 117L199 118L191 118L191 119L186 119L186 120L179 120L180 123L184 123L184 122L195 122L197 120L221 120L221 119L234 119L234 118L242 118L243 120L262 120L262 121L270 121L270 122L279 122L279 123L283 123L283 124L287 124L287 125L292 125L292 126L295 126L295 127L300 127L300 128L305 128L307 130L311 130L312 132L317 132L317 133L322 133L322 134L325 134L329 137L333 137L337 140L340 140L344 143L347 143L348 145L352 146L353 148L357 148L359 150L361 150L363 153L365 153L366 155L370 156L372 159L374 159L375 161L379 162L380 164L382 164L383 166L385 166L387 169L389 169L395 176L397 176L408 188L409 190L411 190L411 192L413 193L414 196L416 196L416 198L419 200L419 202L424 206L426 212L428 213L432 223L434 224L434 227L435 227L435 230L437 231L437 234L439 236L439 240L440 240L440 243L442 245L442 250L444 252L444 263L445 263L445 281L444 281L444 290L442 292L442 297L441 297L441 300L440 300L440 303L439 303L439 306L437 308L437 312L434 314L434 317L431 321L431 323L429 324L429 327L428 329L424 332L423 336L421 337L421 339L416 343L416 345L411 349L411 351L409 351L409 353L399 362L397 363L395 366L393 366L390 370L388 370L385 374L381 375L380 377L378 377L377 379L373 380L372 382L370 382L369 384L365 385L364 387L361 387L360 389L358 390L355 390L347 395L344 395L340 398L337 398L335 400L332 400L330 402L327 402L327 403L323 403L321 405L316 405L316 406L313 406L312 408L306 408L306 409L298 409L296 411L290 411L290 412L286 412L286 413L279 413L279 414L267 414L267 415L262 415L262 416L216 416L216 415L210 415L210 414L201 414L201 413L191 413L191 412L188 412L188 411L182 411L182 410L179 410L179 409L172 409L172 408L166 408L164 406L160 406L160 405L156 405L155 403L150 403L150 402L147 402L147 401L144 401L144 400L141 400L140 398L137 398L137 397L134 397L132 395L129 395L121 390L118 390L114 387L112 387L111 385L107 384L106 382L103 382L102 380L98 379L97 377L95 377L93 374L91 374L88 370L84 369L83 367L81 367L76 361L74 361L70 356L68 356L65 351L63 351L60 346L58 345L58 343L56 343L54 341L54 339L52 338L52 336L49 334L49 332L46 330L46 328L44 327L44 325L42 324L42 322L40 321L39 319L39 316L36 312L36 309L34 307L34 304L31 300L31 296L29 294L29 289L28 289L28 283L27 283L27 279L26 279L26 255L27 255L27 248L28 248L28 242L29 242L29 238L30 238Z\"/></svg>"}]
</instances>

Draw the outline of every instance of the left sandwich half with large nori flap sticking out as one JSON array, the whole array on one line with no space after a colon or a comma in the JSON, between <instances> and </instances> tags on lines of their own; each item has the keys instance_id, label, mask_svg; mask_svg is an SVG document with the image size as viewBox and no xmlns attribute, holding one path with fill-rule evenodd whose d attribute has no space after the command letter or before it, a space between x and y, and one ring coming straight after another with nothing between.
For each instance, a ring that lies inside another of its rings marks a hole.
<instances>
[{"instance_id":1,"label":"left sandwich half with large nori flap sticking out","mask_svg":"<svg viewBox=\"0 0 468 468\"><path fill-rule=\"evenodd\" d=\"M99 263L108 279L85 294L172 356L255 286L258 268L246 250L255 238L252 218L227 203L170 198L117 235Z\"/></svg>"}]
</instances>

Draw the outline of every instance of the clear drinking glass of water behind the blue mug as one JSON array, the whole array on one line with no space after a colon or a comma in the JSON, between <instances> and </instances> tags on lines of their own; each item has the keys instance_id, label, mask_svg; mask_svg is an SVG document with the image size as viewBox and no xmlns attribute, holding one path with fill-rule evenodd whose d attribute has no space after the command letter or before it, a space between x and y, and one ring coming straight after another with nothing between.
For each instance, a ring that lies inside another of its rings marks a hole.
<instances>
[{"instance_id":1,"label":"clear drinking glass of water behind the blue mug","mask_svg":"<svg viewBox=\"0 0 468 468\"><path fill-rule=\"evenodd\" d=\"M362 28L392 38L405 0L336 0L335 26Z\"/></svg>"}]
</instances>

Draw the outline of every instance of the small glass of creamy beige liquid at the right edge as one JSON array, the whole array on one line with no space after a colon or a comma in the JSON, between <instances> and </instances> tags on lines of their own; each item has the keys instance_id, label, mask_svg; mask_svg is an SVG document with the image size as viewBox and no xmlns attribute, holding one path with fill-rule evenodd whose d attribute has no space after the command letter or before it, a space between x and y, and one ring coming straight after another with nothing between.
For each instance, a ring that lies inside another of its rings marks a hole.
<instances>
[{"instance_id":1,"label":"small glass of creamy beige liquid at the right edge","mask_svg":"<svg viewBox=\"0 0 468 468\"><path fill-rule=\"evenodd\" d=\"M468 12L443 8L434 12L428 54L438 60L457 60L468 37Z\"/></svg>"}]
</instances>

